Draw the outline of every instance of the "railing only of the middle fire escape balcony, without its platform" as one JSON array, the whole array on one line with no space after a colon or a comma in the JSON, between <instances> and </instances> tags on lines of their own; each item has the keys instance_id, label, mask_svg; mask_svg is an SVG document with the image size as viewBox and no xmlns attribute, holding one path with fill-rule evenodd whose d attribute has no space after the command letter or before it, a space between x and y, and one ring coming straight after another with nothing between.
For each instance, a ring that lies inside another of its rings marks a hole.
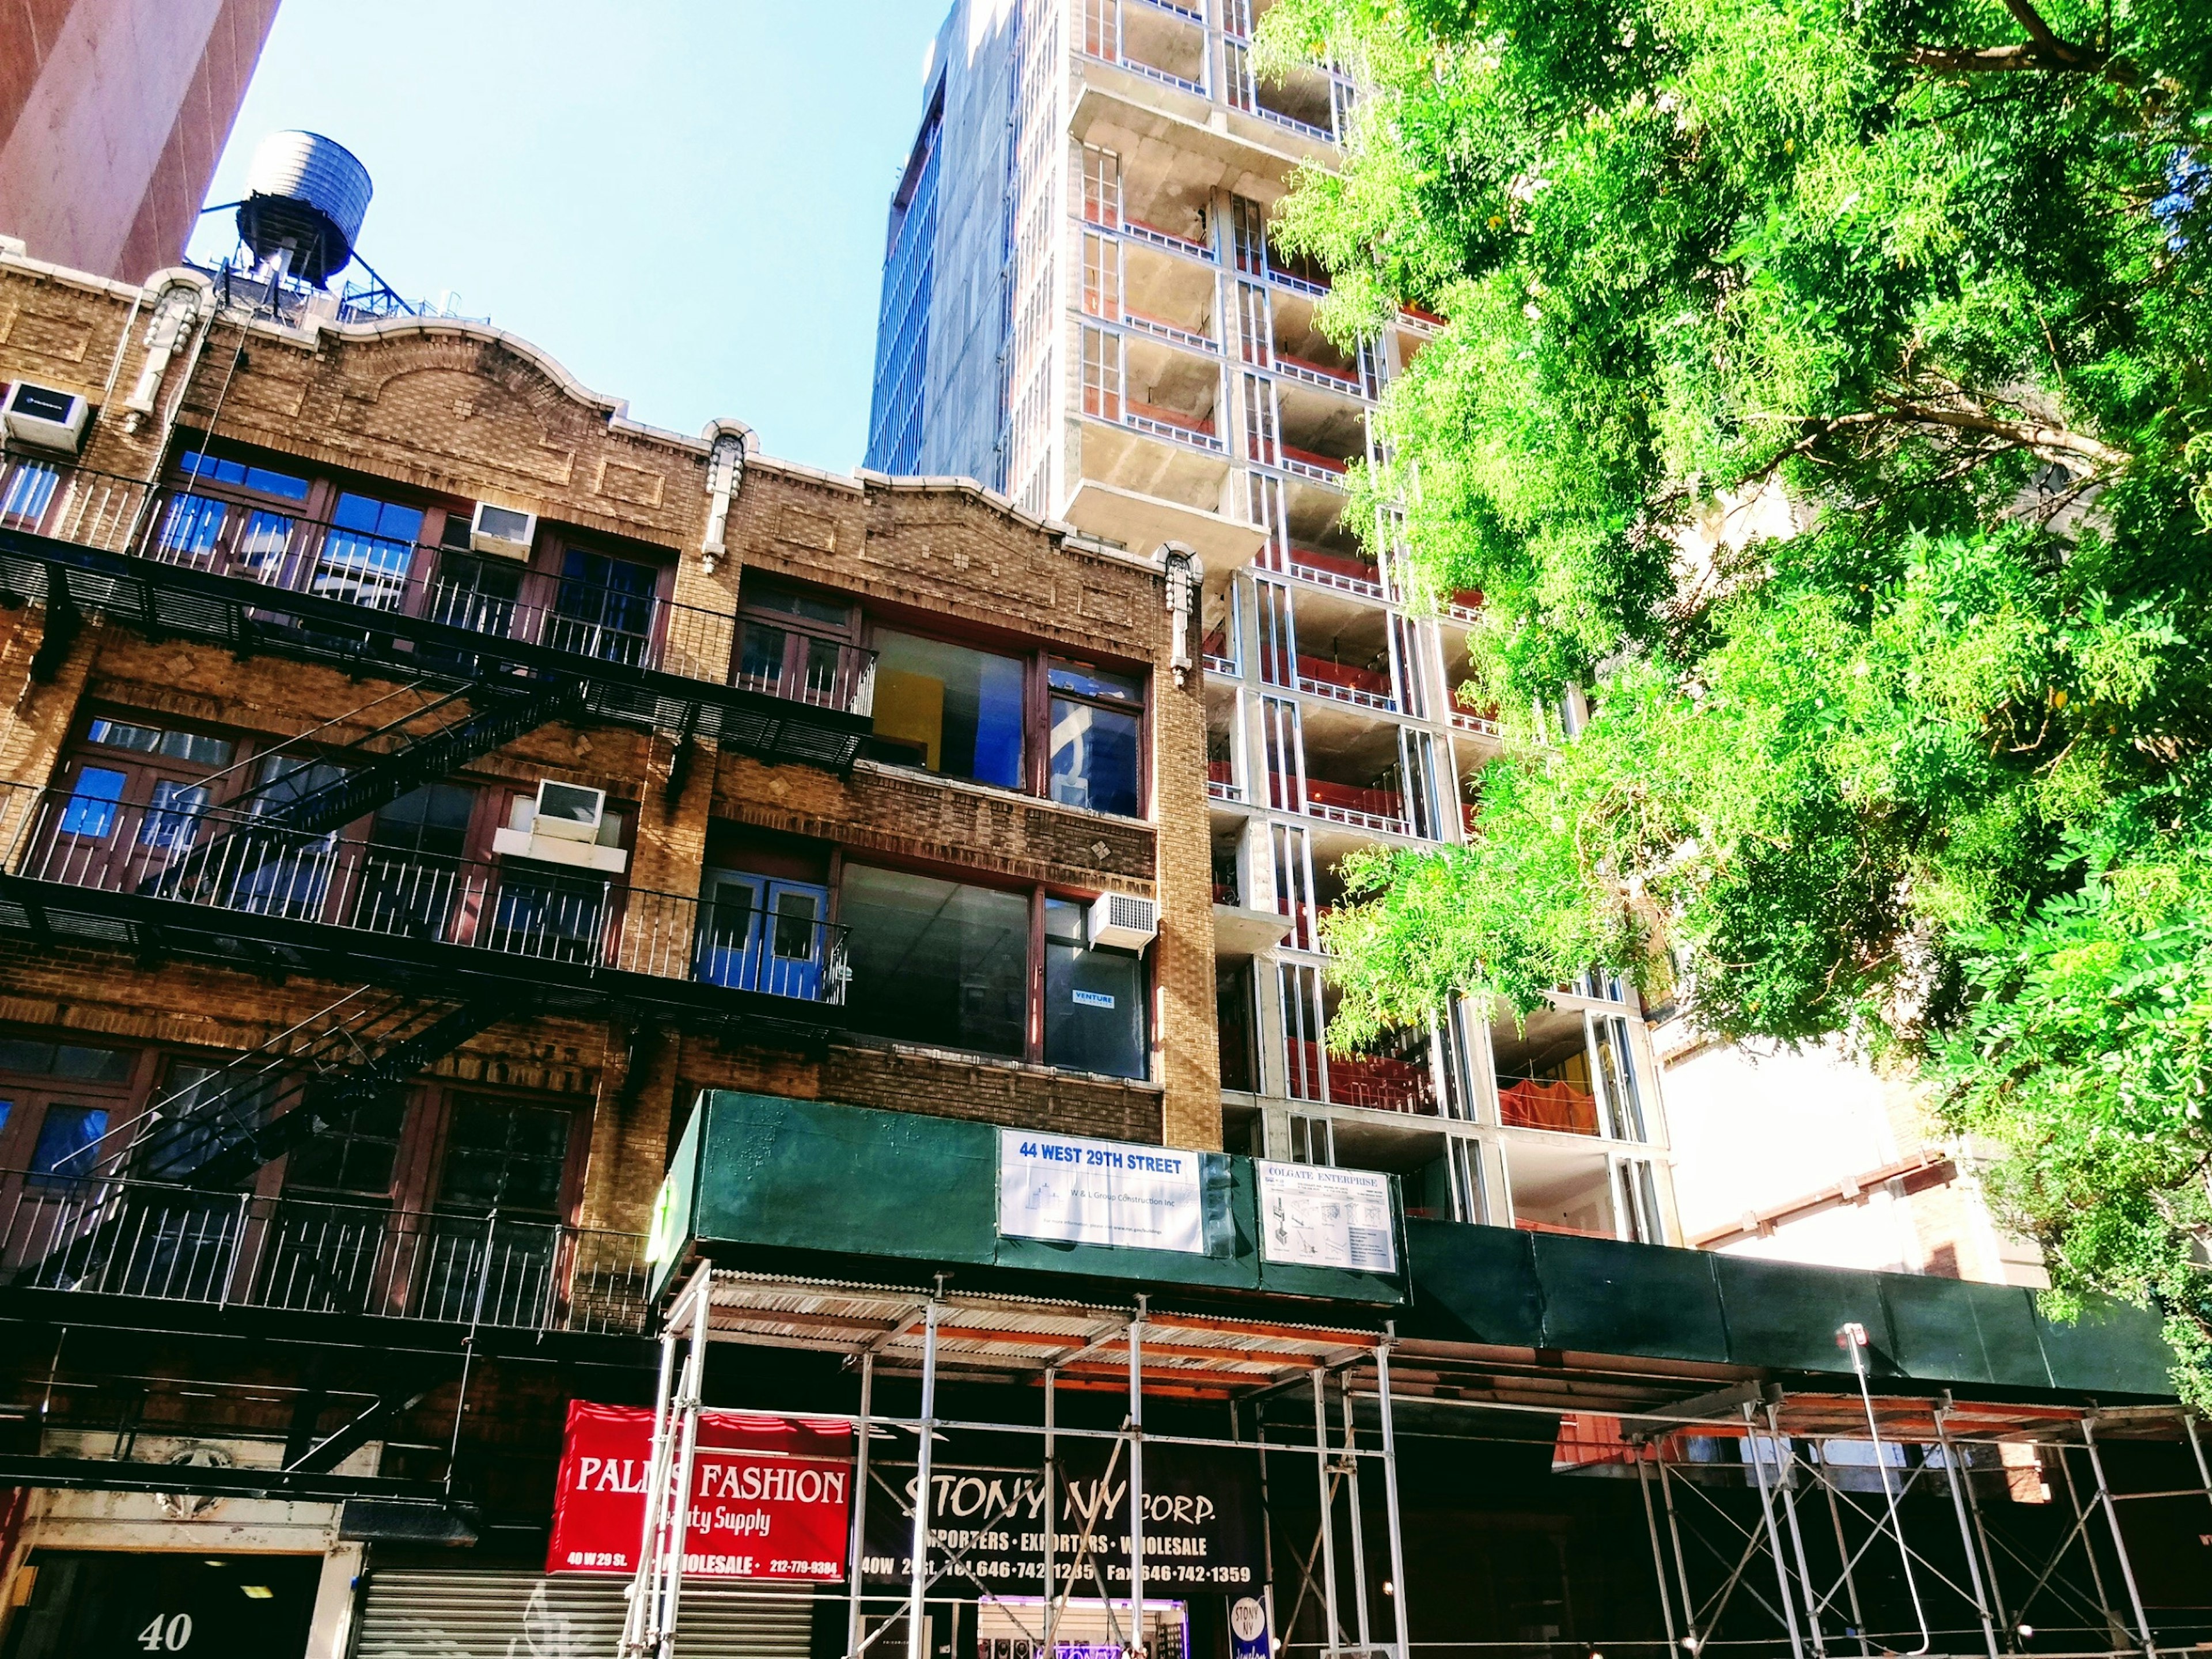
<instances>
[{"instance_id":1,"label":"railing only of the middle fire escape balcony, without its platform","mask_svg":"<svg viewBox=\"0 0 2212 1659\"><path fill-rule=\"evenodd\" d=\"M449 858L274 830L254 814L0 790L18 883L131 894L500 956L697 980L803 1002L845 1000L845 929L522 860Z\"/></svg>"}]
</instances>

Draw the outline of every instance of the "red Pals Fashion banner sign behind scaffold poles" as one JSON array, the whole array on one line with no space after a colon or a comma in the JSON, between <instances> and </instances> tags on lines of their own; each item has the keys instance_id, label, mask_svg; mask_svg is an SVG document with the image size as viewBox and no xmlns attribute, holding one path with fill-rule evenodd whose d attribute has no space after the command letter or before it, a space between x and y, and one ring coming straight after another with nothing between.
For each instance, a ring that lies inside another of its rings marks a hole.
<instances>
[{"instance_id":1,"label":"red Pals Fashion banner sign behind scaffold poles","mask_svg":"<svg viewBox=\"0 0 2212 1659\"><path fill-rule=\"evenodd\" d=\"M635 1573L653 1413L568 1402L546 1573ZM684 1571L708 1579L845 1577L852 1425L701 1411Z\"/></svg>"}]
</instances>

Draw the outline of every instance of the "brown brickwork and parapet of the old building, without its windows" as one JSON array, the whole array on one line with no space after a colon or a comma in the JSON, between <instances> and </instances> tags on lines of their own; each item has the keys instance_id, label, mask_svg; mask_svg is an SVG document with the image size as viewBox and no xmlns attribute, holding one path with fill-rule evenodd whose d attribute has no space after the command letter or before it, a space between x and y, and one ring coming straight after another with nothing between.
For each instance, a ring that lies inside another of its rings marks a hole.
<instances>
[{"instance_id":1,"label":"brown brickwork and parapet of the old building, without its windows","mask_svg":"<svg viewBox=\"0 0 2212 1659\"><path fill-rule=\"evenodd\" d=\"M146 363L133 290L0 261L0 378L33 378L95 403L84 465L150 478L179 434L217 422L230 442L462 500L491 500L664 549L675 597L699 606L708 648L728 650L743 573L852 593L891 617L949 617L987 637L1104 653L1152 672L1155 812L1108 818L1029 796L860 763L849 776L763 765L695 743L681 790L666 734L546 726L467 768L480 783L540 776L608 790L637 812L635 887L697 894L714 823L783 830L854 852L925 860L1064 891L1117 887L1161 900L1155 945L1157 1084L1055 1075L889 1044L812 1048L606 1020L513 1020L462 1046L440 1075L593 1099L584 1221L644 1225L672 1119L697 1088L739 1086L869 1106L1033 1124L1117 1139L1219 1146L1206 719L1197 672L1168 672L1170 615L1155 568L1071 546L973 487L830 478L748 458L708 566L708 442L628 422L524 341L445 321L288 332L215 321L170 363L157 418L128 420ZM188 374L190 369L190 374ZM219 409L217 409L219 405ZM719 624L717 624L719 619ZM148 639L97 617L53 684L27 677L40 611L0 611L0 781L46 785L88 703L221 723L268 737L314 728L347 741L389 719L398 688L281 657L234 657ZM719 633L717 633L719 626ZM1192 641L1194 644L1194 641ZM710 653L708 653L710 655ZM726 672L726 659L708 664ZM701 668L701 670L706 670ZM35 949L0 936L15 1026L106 1033L199 1048L250 1048L352 987L272 982L195 964Z\"/></svg>"}]
</instances>

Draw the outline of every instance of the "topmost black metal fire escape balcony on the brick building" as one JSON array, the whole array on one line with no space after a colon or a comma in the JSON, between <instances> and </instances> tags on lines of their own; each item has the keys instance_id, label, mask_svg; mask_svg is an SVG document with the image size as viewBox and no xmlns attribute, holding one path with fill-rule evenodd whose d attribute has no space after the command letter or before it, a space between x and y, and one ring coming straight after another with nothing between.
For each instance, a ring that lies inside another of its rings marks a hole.
<instances>
[{"instance_id":1,"label":"topmost black metal fire escape balcony on the brick building","mask_svg":"<svg viewBox=\"0 0 2212 1659\"><path fill-rule=\"evenodd\" d=\"M51 672L84 611L230 650L431 684L582 679L591 717L843 770L865 706L741 684L737 619L467 549L272 511L212 484L148 487L13 458L0 597L44 604ZM867 675L847 672L852 684Z\"/></svg>"}]
</instances>

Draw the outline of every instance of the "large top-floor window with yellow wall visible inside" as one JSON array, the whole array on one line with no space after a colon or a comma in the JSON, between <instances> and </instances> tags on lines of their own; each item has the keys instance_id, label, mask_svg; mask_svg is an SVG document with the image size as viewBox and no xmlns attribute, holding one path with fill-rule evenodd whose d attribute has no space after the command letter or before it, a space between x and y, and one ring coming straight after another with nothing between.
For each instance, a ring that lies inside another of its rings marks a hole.
<instances>
[{"instance_id":1,"label":"large top-floor window with yellow wall visible inside","mask_svg":"<svg viewBox=\"0 0 2212 1659\"><path fill-rule=\"evenodd\" d=\"M1022 787L1022 661L907 633L876 637L876 752Z\"/></svg>"}]
</instances>

